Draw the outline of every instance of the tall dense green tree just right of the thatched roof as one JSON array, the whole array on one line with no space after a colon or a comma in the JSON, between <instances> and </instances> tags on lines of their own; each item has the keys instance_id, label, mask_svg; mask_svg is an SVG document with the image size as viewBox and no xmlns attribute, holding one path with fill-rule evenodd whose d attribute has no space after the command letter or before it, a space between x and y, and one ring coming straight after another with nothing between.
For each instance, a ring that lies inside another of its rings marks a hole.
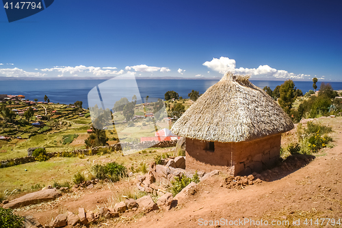
<instances>
[{"instance_id":1,"label":"tall dense green tree just right of the thatched roof","mask_svg":"<svg viewBox=\"0 0 342 228\"><path fill-rule=\"evenodd\" d=\"M285 111L285 113L290 114L293 101L295 100L295 84L292 80L285 81L280 86L280 98L278 100L279 105Z\"/></svg>"}]
</instances>

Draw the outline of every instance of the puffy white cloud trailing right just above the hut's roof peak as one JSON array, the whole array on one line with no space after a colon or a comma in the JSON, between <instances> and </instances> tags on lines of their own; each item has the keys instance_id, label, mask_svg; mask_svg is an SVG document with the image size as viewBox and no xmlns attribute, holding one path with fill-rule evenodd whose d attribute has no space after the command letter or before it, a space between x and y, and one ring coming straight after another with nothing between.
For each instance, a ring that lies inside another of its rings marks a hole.
<instances>
[{"instance_id":1,"label":"puffy white cloud trailing right just above the hut's roof peak","mask_svg":"<svg viewBox=\"0 0 342 228\"><path fill-rule=\"evenodd\" d=\"M276 70L268 65L260 65L258 68L235 68L235 59L229 59L228 57L213 58L213 60L206 61L203 65L221 74L230 71L236 74L250 74L251 77L259 76L277 79L308 79L310 77L309 74L294 74L286 70Z\"/></svg>"}]
</instances>

